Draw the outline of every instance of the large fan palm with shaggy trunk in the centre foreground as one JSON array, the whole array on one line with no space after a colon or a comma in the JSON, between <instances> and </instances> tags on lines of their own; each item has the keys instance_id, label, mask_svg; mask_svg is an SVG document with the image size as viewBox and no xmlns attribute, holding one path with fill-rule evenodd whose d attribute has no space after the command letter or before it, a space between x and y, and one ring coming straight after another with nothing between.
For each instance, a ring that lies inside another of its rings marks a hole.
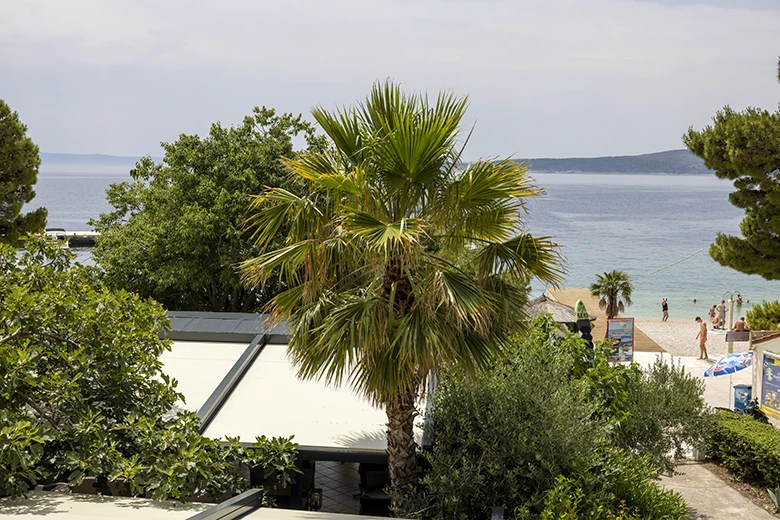
<instances>
[{"instance_id":1,"label":"large fan palm with shaggy trunk in the centre foreground","mask_svg":"<svg viewBox=\"0 0 780 520\"><path fill-rule=\"evenodd\" d=\"M269 188L250 219L264 248L289 231L284 247L242 264L245 283L278 273L289 288L268 310L288 318L299 377L348 381L385 408L396 497L416 479L428 376L446 363L490 366L521 326L529 276L556 284L562 274L557 245L523 232L524 198L540 193L526 169L462 165L466 106L387 82L356 107L314 109L331 149L285 161L307 193Z\"/></svg>"}]
</instances>

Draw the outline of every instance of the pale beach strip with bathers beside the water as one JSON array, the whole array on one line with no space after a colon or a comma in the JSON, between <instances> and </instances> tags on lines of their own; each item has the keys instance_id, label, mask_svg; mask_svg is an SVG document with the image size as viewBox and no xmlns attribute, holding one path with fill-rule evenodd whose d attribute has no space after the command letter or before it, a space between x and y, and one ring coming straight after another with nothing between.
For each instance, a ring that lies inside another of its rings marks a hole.
<instances>
[{"instance_id":1,"label":"pale beach strip with bathers beside the water","mask_svg":"<svg viewBox=\"0 0 780 520\"><path fill-rule=\"evenodd\" d=\"M670 354L699 356L699 340L696 339L699 326L694 321L636 320L635 325ZM747 342L734 343L734 352L746 349ZM721 331L713 331L712 325L707 334L707 353L713 361L726 353L726 336Z\"/></svg>"}]
</instances>

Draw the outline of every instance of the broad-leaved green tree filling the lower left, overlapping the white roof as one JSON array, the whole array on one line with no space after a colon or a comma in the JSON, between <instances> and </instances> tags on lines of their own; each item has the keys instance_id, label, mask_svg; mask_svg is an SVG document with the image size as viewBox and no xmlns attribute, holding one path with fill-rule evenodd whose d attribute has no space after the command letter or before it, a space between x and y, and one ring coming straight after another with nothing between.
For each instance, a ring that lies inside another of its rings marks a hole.
<instances>
[{"instance_id":1,"label":"broad-leaved green tree filling the lower left, overlapping the white roof","mask_svg":"<svg viewBox=\"0 0 780 520\"><path fill-rule=\"evenodd\" d=\"M247 483L236 462L296 469L295 445L258 439L243 450L202 437L161 372L170 348L162 307L97 283L73 255L43 239L0 246L0 495L39 483L96 487L124 479L128 494L216 499Z\"/></svg>"}]
</instances>

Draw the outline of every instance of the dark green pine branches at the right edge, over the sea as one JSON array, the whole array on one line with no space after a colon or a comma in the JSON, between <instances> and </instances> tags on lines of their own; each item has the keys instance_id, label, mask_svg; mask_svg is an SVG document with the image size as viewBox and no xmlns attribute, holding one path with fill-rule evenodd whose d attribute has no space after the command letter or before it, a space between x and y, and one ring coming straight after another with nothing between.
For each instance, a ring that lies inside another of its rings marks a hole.
<instances>
[{"instance_id":1,"label":"dark green pine branches at the right edge, over the sea","mask_svg":"<svg viewBox=\"0 0 780 520\"><path fill-rule=\"evenodd\" d=\"M711 126L690 128L683 141L718 178L734 181L729 200L745 210L742 237L719 233L710 256L737 271L780 280L780 109L736 112L726 106Z\"/></svg>"}]
</instances>

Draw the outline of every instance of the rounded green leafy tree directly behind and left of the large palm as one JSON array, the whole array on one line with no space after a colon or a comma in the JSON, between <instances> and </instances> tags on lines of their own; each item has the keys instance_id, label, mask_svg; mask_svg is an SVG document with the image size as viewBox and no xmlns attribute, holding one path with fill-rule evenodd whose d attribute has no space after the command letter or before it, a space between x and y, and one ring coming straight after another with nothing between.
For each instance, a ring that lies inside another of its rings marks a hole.
<instances>
[{"instance_id":1,"label":"rounded green leafy tree directly behind and left of the large palm","mask_svg":"<svg viewBox=\"0 0 780 520\"><path fill-rule=\"evenodd\" d=\"M107 192L114 211L92 222L101 233L93 256L105 283L152 297L166 308L246 312L262 306L279 287L245 289L236 273L259 249L246 231L250 194L267 186L293 192L280 159L295 155L293 138L317 146L300 116L255 108L240 126L212 125L209 135L163 143L165 157L146 157L133 181Z\"/></svg>"}]
</instances>

